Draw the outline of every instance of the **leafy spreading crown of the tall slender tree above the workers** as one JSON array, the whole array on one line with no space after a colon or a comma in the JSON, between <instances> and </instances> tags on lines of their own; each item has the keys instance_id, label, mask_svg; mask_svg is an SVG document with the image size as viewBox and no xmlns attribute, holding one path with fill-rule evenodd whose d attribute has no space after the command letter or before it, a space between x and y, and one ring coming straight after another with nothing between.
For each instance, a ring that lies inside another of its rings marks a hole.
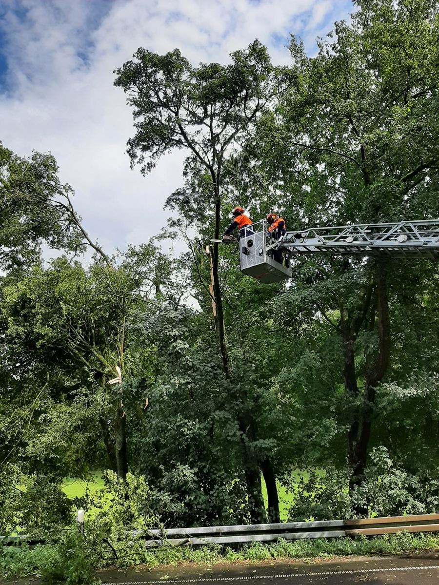
<instances>
[{"instance_id":1,"label":"leafy spreading crown of the tall slender tree above the workers","mask_svg":"<svg viewBox=\"0 0 439 585\"><path fill-rule=\"evenodd\" d=\"M272 66L258 40L231 60L193 68L178 49L158 55L140 47L116 69L114 84L128 94L136 120L128 141L132 164L148 173L162 154L186 147L219 174L231 140L240 142L270 98L294 81L287 67ZM210 152L217 162L208 163Z\"/></svg>"}]
</instances>

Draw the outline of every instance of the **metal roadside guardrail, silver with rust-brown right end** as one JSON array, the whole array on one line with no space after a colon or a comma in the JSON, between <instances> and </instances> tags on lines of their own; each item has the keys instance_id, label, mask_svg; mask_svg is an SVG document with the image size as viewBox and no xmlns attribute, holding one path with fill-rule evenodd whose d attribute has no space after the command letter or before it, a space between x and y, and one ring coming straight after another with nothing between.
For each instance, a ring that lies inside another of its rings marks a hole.
<instances>
[{"instance_id":1,"label":"metal roadside guardrail, silver with rust-brown right end","mask_svg":"<svg viewBox=\"0 0 439 585\"><path fill-rule=\"evenodd\" d=\"M343 538L346 536L375 536L395 532L439 531L439 514L326 520L318 522L286 522L282 524L244 524L237 526L201 526L198 528L153 529L133 531L133 536L145 538L146 546L228 545L241 542L272 542L279 538ZM0 545L29 543L29 536L0 536ZM42 540L37 541L42 543ZM36 543L36 542L32 542Z\"/></svg>"}]
</instances>

